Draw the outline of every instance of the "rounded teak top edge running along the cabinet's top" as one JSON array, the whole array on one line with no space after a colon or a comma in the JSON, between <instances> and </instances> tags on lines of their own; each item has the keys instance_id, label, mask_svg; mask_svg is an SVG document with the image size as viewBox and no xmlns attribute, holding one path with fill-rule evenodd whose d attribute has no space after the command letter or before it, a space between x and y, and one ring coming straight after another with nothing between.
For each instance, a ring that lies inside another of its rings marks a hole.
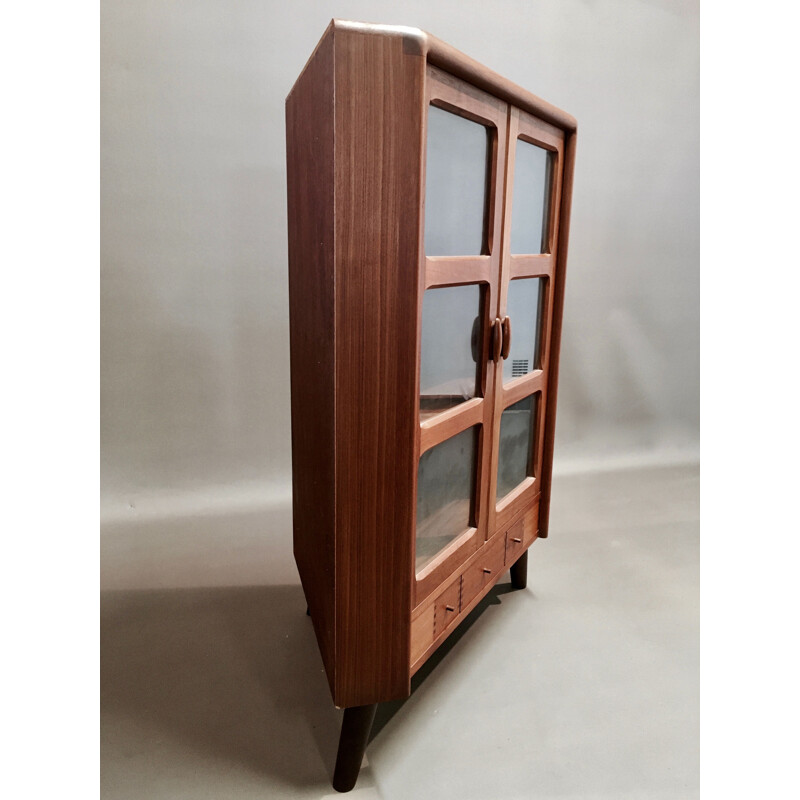
<instances>
[{"instance_id":1,"label":"rounded teak top edge running along the cabinet's top","mask_svg":"<svg viewBox=\"0 0 800 800\"><path fill-rule=\"evenodd\" d=\"M504 78L475 59L464 55L460 50L437 39L420 28L406 25L379 25L367 22L332 19L320 39L323 42L337 31L347 31L364 36L400 37L403 46L410 55L424 57L429 63L461 78L468 83L483 89L503 100L506 100L565 131L577 130L575 118L560 108L542 100L535 94L517 86L513 81ZM319 44L317 44L319 47ZM316 52L316 48L315 48ZM311 55L313 58L313 53ZM309 58L309 61L311 61ZM306 65L307 66L307 65ZM305 68L304 68L305 70ZM300 73L302 75L302 72ZM296 85L296 84L295 84ZM290 92L291 94L291 92Z\"/></svg>"}]
</instances>

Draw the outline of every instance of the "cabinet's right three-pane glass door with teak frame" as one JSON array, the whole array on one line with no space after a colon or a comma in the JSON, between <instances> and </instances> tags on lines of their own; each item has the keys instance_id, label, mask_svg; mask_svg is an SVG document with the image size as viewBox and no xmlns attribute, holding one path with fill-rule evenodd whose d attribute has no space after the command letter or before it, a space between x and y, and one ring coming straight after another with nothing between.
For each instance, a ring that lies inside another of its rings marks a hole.
<instances>
[{"instance_id":1,"label":"cabinet's right three-pane glass door with teak frame","mask_svg":"<svg viewBox=\"0 0 800 800\"><path fill-rule=\"evenodd\" d=\"M508 164L497 317L489 524L498 532L541 490L542 429L553 304L564 134L517 108L508 112Z\"/></svg>"}]
</instances>

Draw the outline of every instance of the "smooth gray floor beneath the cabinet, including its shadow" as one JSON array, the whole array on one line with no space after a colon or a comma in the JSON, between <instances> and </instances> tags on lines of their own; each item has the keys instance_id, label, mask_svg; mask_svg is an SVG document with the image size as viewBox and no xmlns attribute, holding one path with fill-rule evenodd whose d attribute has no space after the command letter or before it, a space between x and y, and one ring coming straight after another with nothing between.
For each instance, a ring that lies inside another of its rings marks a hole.
<instances>
[{"instance_id":1,"label":"smooth gray floor beneath the cabinet, including its shadow","mask_svg":"<svg viewBox=\"0 0 800 800\"><path fill-rule=\"evenodd\" d=\"M412 696L379 710L350 796L697 797L698 483L695 466L557 479L528 589L502 579ZM340 796L341 712L288 514L272 525L271 551L258 515L104 534L105 800Z\"/></svg>"}]
</instances>

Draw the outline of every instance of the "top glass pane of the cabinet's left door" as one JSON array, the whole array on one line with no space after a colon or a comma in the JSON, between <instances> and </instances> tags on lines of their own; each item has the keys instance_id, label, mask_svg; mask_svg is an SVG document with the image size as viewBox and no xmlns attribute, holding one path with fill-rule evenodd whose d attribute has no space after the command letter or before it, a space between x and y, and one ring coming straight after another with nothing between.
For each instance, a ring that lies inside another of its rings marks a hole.
<instances>
[{"instance_id":1,"label":"top glass pane of the cabinet's left door","mask_svg":"<svg viewBox=\"0 0 800 800\"><path fill-rule=\"evenodd\" d=\"M490 152L488 128L429 106L425 167L427 255L477 256L485 252Z\"/></svg>"}]
</instances>

